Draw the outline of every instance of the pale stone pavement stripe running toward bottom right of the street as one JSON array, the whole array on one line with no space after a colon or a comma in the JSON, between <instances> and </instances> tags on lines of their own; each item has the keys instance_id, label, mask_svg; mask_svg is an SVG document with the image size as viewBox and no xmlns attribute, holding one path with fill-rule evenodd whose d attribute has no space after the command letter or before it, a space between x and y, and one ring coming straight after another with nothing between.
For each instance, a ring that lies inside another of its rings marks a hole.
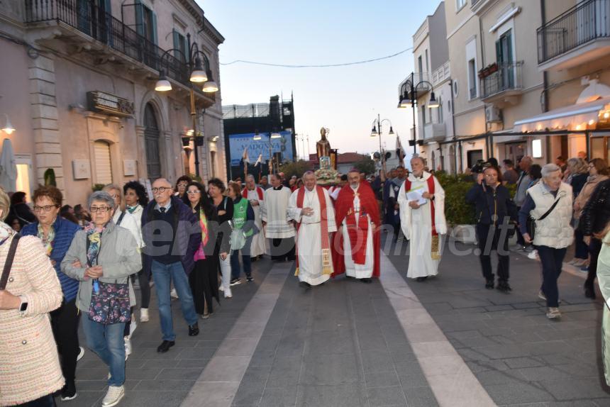
<instances>
[{"instance_id":1,"label":"pale stone pavement stripe running toward bottom right of the street","mask_svg":"<svg viewBox=\"0 0 610 407\"><path fill-rule=\"evenodd\" d=\"M381 253L381 283L440 407L496 406L428 311Z\"/></svg>"}]
</instances>

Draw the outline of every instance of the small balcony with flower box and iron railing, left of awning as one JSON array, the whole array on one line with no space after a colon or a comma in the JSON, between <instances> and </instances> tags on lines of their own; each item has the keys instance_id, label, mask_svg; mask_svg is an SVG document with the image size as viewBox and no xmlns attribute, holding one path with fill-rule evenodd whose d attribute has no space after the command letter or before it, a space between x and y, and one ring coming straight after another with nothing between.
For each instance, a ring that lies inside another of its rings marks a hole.
<instances>
[{"instance_id":1,"label":"small balcony with flower box and iron railing, left of awning","mask_svg":"<svg viewBox=\"0 0 610 407\"><path fill-rule=\"evenodd\" d=\"M504 101L522 93L523 61L499 62L490 67L493 72L487 72L487 76L481 78L481 99L485 103Z\"/></svg>"}]
</instances>

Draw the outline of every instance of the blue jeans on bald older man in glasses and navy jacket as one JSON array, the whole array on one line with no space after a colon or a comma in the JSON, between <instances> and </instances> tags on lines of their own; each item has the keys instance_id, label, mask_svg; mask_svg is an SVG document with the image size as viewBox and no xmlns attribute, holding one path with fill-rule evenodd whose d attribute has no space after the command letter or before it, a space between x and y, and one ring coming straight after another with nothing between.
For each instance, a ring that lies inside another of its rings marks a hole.
<instances>
[{"instance_id":1,"label":"blue jeans on bald older man in glasses and navy jacket","mask_svg":"<svg viewBox=\"0 0 610 407\"><path fill-rule=\"evenodd\" d=\"M161 332L163 340L175 340L174 322L172 320L172 299L170 298L170 286L174 281L174 288L180 299L182 316L189 325L197 322L197 313L193 303L193 294L189 285L189 277L184 272L182 263L163 264L153 260L150 269L153 272L153 281L157 288L157 304L159 306L159 318L161 320Z\"/></svg>"}]
</instances>

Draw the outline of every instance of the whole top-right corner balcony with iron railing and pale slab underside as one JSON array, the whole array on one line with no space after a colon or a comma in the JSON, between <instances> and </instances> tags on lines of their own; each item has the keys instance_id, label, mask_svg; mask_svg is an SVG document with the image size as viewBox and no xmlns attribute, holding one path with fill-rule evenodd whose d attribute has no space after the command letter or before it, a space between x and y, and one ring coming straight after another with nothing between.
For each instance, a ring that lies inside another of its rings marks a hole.
<instances>
[{"instance_id":1,"label":"whole top-right corner balcony with iron railing and pale slab underside","mask_svg":"<svg viewBox=\"0 0 610 407\"><path fill-rule=\"evenodd\" d=\"M585 0L538 28L540 69L563 69L610 55L610 0Z\"/></svg>"}]
</instances>

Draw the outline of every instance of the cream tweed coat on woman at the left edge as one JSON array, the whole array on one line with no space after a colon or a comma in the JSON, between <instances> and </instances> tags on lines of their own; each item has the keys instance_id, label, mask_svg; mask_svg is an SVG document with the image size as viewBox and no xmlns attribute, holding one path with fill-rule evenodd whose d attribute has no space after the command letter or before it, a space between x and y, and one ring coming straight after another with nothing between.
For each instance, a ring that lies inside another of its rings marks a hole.
<instances>
[{"instance_id":1,"label":"cream tweed coat on woman at the left edge","mask_svg":"<svg viewBox=\"0 0 610 407\"><path fill-rule=\"evenodd\" d=\"M0 246L0 273L12 239ZM62 288L38 238L19 240L6 291L28 302L23 315L0 310L0 406L13 406L64 385L49 318L62 303Z\"/></svg>"}]
</instances>

